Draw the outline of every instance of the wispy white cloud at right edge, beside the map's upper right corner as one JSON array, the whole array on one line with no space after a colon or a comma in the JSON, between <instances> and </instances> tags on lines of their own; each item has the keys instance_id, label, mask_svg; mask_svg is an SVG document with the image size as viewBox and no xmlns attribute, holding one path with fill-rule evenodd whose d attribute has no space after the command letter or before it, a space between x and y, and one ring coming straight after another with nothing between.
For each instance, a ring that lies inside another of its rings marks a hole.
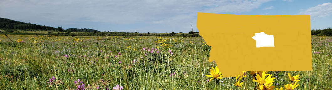
<instances>
[{"instance_id":1,"label":"wispy white cloud at right edge, beside the map's upper right corner","mask_svg":"<svg viewBox=\"0 0 332 90\"><path fill-rule=\"evenodd\" d=\"M302 10L299 15L310 15L311 19L323 18L332 15L332 3L323 3L315 7Z\"/></svg>"}]
</instances>

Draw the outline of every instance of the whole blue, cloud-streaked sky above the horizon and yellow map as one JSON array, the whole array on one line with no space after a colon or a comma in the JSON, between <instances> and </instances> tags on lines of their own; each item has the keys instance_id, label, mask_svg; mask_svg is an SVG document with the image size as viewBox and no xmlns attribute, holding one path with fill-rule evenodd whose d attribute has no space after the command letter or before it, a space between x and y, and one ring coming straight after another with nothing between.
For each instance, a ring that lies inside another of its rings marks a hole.
<instances>
[{"instance_id":1,"label":"whole blue, cloud-streaked sky above the horizon and yellow map","mask_svg":"<svg viewBox=\"0 0 332 90\"><path fill-rule=\"evenodd\" d=\"M118 32L194 31L197 13L310 15L332 27L332 0L0 0L0 17L52 27Z\"/></svg>"}]
</instances>

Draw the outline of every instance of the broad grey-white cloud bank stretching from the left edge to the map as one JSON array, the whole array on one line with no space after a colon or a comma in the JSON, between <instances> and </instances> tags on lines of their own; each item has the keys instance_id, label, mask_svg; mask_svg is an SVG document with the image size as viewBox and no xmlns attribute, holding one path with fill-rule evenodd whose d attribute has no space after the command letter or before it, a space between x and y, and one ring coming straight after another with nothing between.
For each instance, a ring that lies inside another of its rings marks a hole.
<instances>
[{"instance_id":1,"label":"broad grey-white cloud bank stretching from the left edge to the map","mask_svg":"<svg viewBox=\"0 0 332 90\"><path fill-rule=\"evenodd\" d=\"M0 2L0 17L40 24L52 22L58 26L68 24L84 26L86 23L80 22L100 22L130 27L132 24L147 23L173 27L178 31L190 31L190 22L196 28L197 12L249 12L268 1L270 0L4 0ZM140 25L143 25L142 31L167 30L152 28L146 24ZM108 31L107 26L105 30Z\"/></svg>"}]
</instances>

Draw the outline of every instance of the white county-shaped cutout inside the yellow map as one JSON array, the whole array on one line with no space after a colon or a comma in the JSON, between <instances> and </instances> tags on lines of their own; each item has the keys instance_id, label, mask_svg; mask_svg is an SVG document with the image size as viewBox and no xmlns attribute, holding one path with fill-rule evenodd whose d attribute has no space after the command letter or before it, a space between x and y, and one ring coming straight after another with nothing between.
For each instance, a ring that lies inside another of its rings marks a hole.
<instances>
[{"instance_id":1,"label":"white county-shaped cutout inside the yellow map","mask_svg":"<svg viewBox=\"0 0 332 90\"><path fill-rule=\"evenodd\" d=\"M273 35L265 34L264 32L255 33L255 36L251 37L256 40L256 48L259 47L274 47Z\"/></svg>"}]
</instances>

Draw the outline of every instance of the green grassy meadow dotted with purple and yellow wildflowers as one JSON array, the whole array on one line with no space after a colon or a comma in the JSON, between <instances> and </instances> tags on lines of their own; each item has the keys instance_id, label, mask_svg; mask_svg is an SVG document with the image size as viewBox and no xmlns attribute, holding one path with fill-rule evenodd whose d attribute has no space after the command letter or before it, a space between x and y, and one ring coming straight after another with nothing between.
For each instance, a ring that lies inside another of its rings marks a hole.
<instances>
[{"instance_id":1,"label":"green grassy meadow dotted with purple and yellow wildflowers","mask_svg":"<svg viewBox=\"0 0 332 90\"><path fill-rule=\"evenodd\" d=\"M8 36L1 90L332 90L332 37L312 36L312 71L222 77L202 37Z\"/></svg>"}]
</instances>

